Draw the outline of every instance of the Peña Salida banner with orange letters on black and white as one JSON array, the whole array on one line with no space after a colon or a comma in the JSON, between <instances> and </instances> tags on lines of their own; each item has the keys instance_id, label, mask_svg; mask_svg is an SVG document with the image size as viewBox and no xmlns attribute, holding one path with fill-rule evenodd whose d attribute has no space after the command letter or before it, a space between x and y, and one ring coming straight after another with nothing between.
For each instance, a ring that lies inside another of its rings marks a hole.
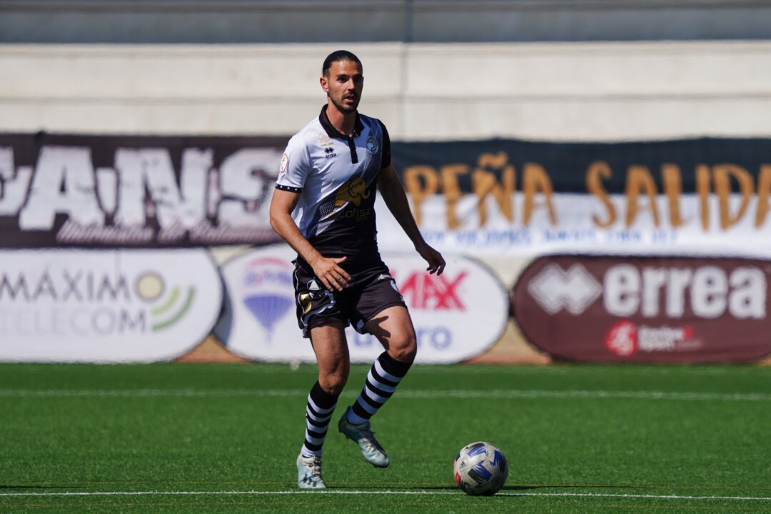
<instances>
[{"instance_id":1,"label":"Pe\u00f1a Salida banner with orange letters on black and white","mask_svg":"<svg viewBox=\"0 0 771 514\"><path fill-rule=\"evenodd\" d=\"M393 158L443 251L771 257L771 139L394 143ZM399 237L380 228L382 247Z\"/></svg>"}]
</instances>

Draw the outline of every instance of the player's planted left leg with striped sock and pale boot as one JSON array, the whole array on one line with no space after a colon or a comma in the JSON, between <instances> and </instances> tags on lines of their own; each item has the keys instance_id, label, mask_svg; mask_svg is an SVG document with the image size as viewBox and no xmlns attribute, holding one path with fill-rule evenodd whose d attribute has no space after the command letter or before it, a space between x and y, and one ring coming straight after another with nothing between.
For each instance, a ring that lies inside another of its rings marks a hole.
<instances>
[{"instance_id":1,"label":"player's planted left leg with striped sock and pale boot","mask_svg":"<svg viewBox=\"0 0 771 514\"><path fill-rule=\"evenodd\" d=\"M322 479L323 445L351 365L342 322L311 328L310 335L318 362L318 381L311 388L305 407L305 441L297 462L298 486L323 489L326 487Z\"/></svg>"}]
</instances>

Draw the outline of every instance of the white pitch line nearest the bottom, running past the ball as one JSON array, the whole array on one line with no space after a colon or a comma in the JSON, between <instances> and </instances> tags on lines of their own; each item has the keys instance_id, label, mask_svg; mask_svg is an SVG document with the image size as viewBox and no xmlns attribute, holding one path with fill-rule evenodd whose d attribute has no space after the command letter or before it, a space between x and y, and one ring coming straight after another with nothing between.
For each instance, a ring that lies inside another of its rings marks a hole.
<instances>
[{"instance_id":1,"label":"white pitch line nearest the bottom, running past the ball","mask_svg":"<svg viewBox=\"0 0 771 514\"><path fill-rule=\"evenodd\" d=\"M271 496L271 495L404 495L404 496L463 496L457 491L95 491L95 492L0 492L0 497L19 496ZM591 497L591 498L629 498L629 499L688 499L688 500L735 500L769 502L768 496L692 496L692 495L635 495L605 494L601 492L499 492L497 496L536 496L536 497Z\"/></svg>"}]
</instances>

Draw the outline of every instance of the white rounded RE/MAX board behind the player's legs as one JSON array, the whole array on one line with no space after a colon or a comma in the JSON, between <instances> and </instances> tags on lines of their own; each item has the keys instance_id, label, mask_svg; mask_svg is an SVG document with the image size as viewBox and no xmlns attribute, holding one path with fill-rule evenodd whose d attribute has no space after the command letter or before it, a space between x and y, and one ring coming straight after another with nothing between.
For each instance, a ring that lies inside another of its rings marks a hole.
<instances>
[{"instance_id":1,"label":"white rounded RE/MAX board behind the player's legs","mask_svg":"<svg viewBox=\"0 0 771 514\"><path fill-rule=\"evenodd\" d=\"M295 314L295 257L279 244L250 251L221 267L227 308L214 334L229 350L259 361L315 361ZM483 264L445 256L446 270L436 276L426 273L426 263L417 254L382 257L415 324L416 362L463 361L483 353L503 334L507 293ZM346 336L354 362L372 362L383 351L372 335L348 328Z\"/></svg>"}]
</instances>

